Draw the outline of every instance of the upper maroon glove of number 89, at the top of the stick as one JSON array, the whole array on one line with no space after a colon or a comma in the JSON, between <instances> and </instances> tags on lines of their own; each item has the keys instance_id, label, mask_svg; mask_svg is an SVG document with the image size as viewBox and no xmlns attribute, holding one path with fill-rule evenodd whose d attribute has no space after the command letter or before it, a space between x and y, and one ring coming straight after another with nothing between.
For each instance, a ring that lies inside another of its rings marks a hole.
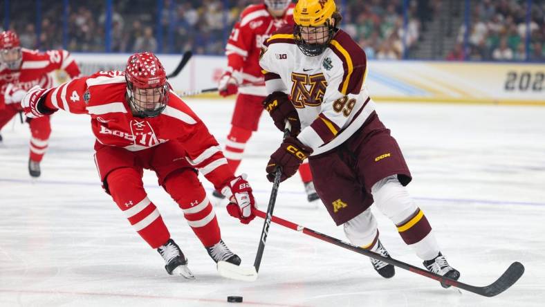
<instances>
[{"instance_id":1,"label":"upper maroon glove of number 89, at the top of the stick","mask_svg":"<svg viewBox=\"0 0 545 307\"><path fill-rule=\"evenodd\" d=\"M290 97L284 92L274 92L268 95L262 102L264 108L268 111L275 122L275 126L284 131L286 120L290 122L290 135L297 136L301 132L301 122L295 106L291 103Z\"/></svg>"}]
</instances>

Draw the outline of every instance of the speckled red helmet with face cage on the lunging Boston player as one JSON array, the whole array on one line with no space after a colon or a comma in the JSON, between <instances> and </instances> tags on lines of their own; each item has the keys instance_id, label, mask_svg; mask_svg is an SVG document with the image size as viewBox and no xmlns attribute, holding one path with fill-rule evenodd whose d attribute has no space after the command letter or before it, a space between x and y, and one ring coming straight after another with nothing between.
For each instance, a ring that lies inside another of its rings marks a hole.
<instances>
[{"instance_id":1,"label":"speckled red helmet with face cage on the lunging Boston player","mask_svg":"<svg viewBox=\"0 0 545 307\"><path fill-rule=\"evenodd\" d=\"M129 104L135 115L152 118L163 112L168 102L169 84L163 64L153 53L131 55L125 68L125 79Z\"/></svg>"}]
</instances>

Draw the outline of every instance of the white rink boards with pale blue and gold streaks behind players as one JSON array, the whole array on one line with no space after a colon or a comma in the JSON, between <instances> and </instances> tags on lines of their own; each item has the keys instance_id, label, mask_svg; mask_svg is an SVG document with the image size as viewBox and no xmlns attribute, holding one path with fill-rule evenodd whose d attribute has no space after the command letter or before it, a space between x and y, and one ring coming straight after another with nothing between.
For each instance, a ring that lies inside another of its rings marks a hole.
<instances>
[{"instance_id":1,"label":"white rink boards with pale blue and gold streaks behind players","mask_svg":"<svg viewBox=\"0 0 545 307\"><path fill-rule=\"evenodd\" d=\"M122 70L129 55L75 53L84 75ZM181 55L159 55L167 73ZM217 86L225 57L195 55L171 81L176 91ZM62 82L62 74L57 73ZM378 101L545 105L545 63L369 61L367 88ZM210 97L210 95L208 96ZM219 96L217 96L219 97Z\"/></svg>"}]
</instances>

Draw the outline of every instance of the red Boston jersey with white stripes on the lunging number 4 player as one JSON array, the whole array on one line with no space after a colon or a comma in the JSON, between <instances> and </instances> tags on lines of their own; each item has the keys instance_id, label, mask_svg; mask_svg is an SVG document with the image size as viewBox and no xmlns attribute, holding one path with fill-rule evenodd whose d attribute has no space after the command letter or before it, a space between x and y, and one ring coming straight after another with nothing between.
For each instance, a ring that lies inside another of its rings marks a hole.
<instances>
[{"instance_id":1,"label":"red Boston jersey with white stripes on the lunging number 4 player","mask_svg":"<svg viewBox=\"0 0 545 307\"><path fill-rule=\"evenodd\" d=\"M216 139L174 91L170 91L163 113L154 118L134 117L126 93L123 72L100 71L49 91L44 105L48 109L91 115L95 149L116 146L139 151L164 142L181 142L187 161L216 189L233 178Z\"/></svg>"}]
</instances>

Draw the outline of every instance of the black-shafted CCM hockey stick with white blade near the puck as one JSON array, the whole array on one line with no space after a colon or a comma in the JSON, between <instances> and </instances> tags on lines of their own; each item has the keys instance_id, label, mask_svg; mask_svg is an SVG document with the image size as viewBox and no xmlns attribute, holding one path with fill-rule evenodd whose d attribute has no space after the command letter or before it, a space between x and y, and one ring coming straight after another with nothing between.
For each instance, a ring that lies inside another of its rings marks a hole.
<instances>
[{"instance_id":1,"label":"black-shafted CCM hockey stick with white blade near the puck","mask_svg":"<svg viewBox=\"0 0 545 307\"><path fill-rule=\"evenodd\" d=\"M290 134L290 123L286 122L286 129L284 130L284 139ZM257 279L257 272L259 272L259 266L261 266L261 258L263 258L263 252L265 250L265 244L267 241L267 235L269 232L270 221L273 217L273 210L275 210L276 196L278 194L278 187L280 185L280 177L282 174L282 168L277 167L275 171L275 180L273 182L273 190L270 192L269 205L267 207L267 214L263 223L263 229L261 230L261 236L259 237L259 246L257 247L257 254L255 255L254 266L243 267L235 266L232 263L226 261L218 262L218 272L221 276L230 279L238 279L242 281L255 281ZM257 209L256 209L257 210ZM259 211L261 212L261 211ZM261 212L261 214L265 214ZM262 216L263 217L263 216Z\"/></svg>"}]
</instances>

